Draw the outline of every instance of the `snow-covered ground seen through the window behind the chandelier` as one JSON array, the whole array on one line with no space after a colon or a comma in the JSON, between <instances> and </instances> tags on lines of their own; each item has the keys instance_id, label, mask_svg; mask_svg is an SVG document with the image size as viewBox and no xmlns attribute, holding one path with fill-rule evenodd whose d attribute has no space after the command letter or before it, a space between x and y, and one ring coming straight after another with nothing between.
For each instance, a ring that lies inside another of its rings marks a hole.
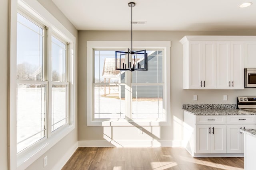
<instances>
[{"instance_id":1,"label":"snow-covered ground seen through the window behind the chandelier","mask_svg":"<svg viewBox=\"0 0 256 170\"><path fill-rule=\"evenodd\" d=\"M125 100L119 98L118 86L106 86L106 97L104 87L95 87L95 118L124 118ZM141 98L132 100L133 118L162 118L162 98ZM158 114L159 113L159 114Z\"/></svg>"}]
</instances>

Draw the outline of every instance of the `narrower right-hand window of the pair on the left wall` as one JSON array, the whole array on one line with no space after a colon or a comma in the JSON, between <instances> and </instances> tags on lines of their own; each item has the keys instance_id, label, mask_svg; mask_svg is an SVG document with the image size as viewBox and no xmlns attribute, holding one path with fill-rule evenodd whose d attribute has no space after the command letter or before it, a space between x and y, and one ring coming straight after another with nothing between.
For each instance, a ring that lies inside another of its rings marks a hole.
<instances>
[{"instance_id":1,"label":"narrower right-hand window of the pair on the left wall","mask_svg":"<svg viewBox=\"0 0 256 170\"><path fill-rule=\"evenodd\" d=\"M52 36L51 101L52 131L68 123L68 82L66 82L67 43Z\"/></svg>"}]
</instances>

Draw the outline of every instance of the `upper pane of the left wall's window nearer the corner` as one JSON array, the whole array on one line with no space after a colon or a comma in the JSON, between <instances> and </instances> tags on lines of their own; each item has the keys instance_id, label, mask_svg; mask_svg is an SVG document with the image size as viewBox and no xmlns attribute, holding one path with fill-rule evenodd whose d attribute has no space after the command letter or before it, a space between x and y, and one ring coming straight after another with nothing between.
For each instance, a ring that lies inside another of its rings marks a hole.
<instances>
[{"instance_id":1,"label":"upper pane of the left wall's window nearer the corner","mask_svg":"<svg viewBox=\"0 0 256 170\"><path fill-rule=\"evenodd\" d=\"M52 81L66 81L66 45L52 36Z\"/></svg>"}]
</instances>

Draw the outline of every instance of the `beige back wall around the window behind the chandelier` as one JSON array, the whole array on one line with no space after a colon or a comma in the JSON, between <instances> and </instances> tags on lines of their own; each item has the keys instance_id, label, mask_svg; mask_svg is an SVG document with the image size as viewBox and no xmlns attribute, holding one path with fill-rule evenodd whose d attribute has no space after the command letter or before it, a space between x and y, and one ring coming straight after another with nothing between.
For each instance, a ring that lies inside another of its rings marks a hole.
<instances>
[{"instance_id":1,"label":"beige back wall around the window behind the chandelier","mask_svg":"<svg viewBox=\"0 0 256 170\"><path fill-rule=\"evenodd\" d=\"M130 31L78 31L78 141L104 141L104 134L113 140L182 140L182 104L236 104L236 96L256 96L255 88L245 90L184 90L182 89L182 44L185 35L256 35L256 31L134 31L134 41L171 41L171 125L144 127L138 135L136 127L103 128L86 125L86 41L130 41ZM193 101L193 95L198 101ZM223 101L228 95L228 101Z\"/></svg>"}]
</instances>

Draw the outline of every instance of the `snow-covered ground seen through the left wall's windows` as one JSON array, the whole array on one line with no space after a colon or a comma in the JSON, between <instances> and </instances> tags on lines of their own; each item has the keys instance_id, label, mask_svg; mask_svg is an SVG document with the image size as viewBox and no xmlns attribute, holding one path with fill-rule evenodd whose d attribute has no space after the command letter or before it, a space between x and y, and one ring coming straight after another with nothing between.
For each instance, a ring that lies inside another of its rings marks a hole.
<instances>
[{"instance_id":1,"label":"snow-covered ground seen through the left wall's windows","mask_svg":"<svg viewBox=\"0 0 256 170\"><path fill-rule=\"evenodd\" d=\"M46 136L45 118L46 102L45 88L18 87L17 88L17 151L21 151ZM52 95L52 131L66 122L65 88L54 88ZM64 119L63 121L61 121ZM53 129L54 128L54 129Z\"/></svg>"}]
</instances>

